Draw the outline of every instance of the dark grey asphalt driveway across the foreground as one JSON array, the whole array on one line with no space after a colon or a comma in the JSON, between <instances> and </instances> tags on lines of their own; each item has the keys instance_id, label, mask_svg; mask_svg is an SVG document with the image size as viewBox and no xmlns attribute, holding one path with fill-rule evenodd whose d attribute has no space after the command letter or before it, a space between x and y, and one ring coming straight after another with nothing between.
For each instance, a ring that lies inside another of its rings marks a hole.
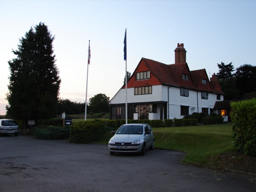
<instances>
[{"instance_id":1,"label":"dark grey asphalt driveway across the foreground","mask_svg":"<svg viewBox=\"0 0 256 192\"><path fill-rule=\"evenodd\" d=\"M107 145L0 137L0 192L254 192L256 176L182 165L185 154L110 155Z\"/></svg>"}]
</instances>

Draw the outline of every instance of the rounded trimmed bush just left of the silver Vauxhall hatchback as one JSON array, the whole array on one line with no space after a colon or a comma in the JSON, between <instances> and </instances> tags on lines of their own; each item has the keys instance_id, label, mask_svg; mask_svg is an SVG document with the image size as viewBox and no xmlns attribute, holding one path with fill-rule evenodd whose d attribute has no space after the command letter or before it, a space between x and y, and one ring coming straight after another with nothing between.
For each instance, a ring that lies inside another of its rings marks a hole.
<instances>
[{"instance_id":1,"label":"rounded trimmed bush just left of the silver Vauxhall hatchback","mask_svg":"<svg viewBox=\"0 0 256 192\"><path fill-rule=\"evenodd\" d=\"M103 121L84 121L70 126L69 142L91 143L99 139L106 132Z\"/></svg>"}]
</instances>

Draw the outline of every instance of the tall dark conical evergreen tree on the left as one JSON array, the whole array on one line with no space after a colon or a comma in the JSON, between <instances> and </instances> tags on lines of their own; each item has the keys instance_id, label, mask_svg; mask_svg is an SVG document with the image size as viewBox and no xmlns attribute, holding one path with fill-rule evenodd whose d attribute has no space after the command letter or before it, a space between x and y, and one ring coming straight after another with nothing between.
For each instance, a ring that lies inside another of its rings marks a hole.
<instances>
[{"instance_id":1,"label":"tall dark conical evergreen tree on the left","mask_svg":"<svg viewBox=\"0 0 256 192\"><path fill-rule=\"evenodd\" d=\"M19 120L48 119L56 116L60 90L59 71L53 51L54 36L40 22L19 39L16 58L8 61L9 92L7 114Z\"/></svg>"}]
</instances>

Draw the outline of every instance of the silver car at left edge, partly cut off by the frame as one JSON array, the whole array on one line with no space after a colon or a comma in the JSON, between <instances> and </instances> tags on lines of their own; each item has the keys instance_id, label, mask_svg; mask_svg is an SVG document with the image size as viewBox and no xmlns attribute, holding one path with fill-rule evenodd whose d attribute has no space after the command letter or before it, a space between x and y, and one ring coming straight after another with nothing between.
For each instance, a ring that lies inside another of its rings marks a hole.
<instances>
[{"instance_id":1,"label":"silver car at left edge, partly cut off by the frame","mask_svg":"<svg viewBox=\"0 0 256 192\"><path fill-rule=\"evenodd\" d=\"M13 119L0 119L0 134L19 135L18 124Z\"/></svg>"}]
</instances>

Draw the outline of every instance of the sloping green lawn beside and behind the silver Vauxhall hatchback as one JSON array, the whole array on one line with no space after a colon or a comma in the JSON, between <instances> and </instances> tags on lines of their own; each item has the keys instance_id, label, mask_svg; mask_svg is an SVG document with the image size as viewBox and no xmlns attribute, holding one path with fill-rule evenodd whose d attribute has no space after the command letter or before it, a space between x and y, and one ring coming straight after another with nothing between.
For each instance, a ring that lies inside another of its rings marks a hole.
<instances>
[{"instance_id":1,"label":"sloping green lawn beside and behind the silver Vauxhall hatchback","mask_svg":"<svg viewBox=\"0 0 256 192\"><path fill-rule=\"evenodd\" d=\"M213 156L234 151L232 124L212 124L168 128L152 128L155 148L186 152L183 163L210 165ZM113 136L106 132L95 143L108 144ZM209 158L211 157L211 158Z\"/></svg>"}]
</instances>

